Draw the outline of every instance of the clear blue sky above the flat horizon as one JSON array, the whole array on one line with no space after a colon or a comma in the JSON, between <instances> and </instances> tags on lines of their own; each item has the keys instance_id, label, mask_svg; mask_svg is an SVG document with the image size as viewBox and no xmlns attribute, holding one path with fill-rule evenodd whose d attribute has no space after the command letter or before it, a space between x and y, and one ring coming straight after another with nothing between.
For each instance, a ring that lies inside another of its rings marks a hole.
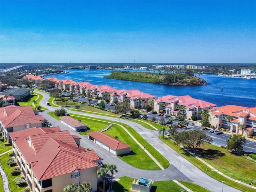
<instances>
[{"instance_id":1,"label":"clear blue sky above the flat horizon","mask_svg":"<svg viewBox=\"0 0 256 192\"><path fill-rule=\"evenodd\" d=\"M256 63L256 1L3 1L4 63Z\"/></svg>"}]
</instances>

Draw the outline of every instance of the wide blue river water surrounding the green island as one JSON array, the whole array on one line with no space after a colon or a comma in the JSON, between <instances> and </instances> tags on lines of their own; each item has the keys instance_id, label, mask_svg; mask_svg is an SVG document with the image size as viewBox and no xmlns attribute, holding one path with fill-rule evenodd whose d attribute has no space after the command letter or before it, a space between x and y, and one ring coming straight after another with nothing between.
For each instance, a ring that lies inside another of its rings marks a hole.
<instances>
[{"instance_id":1,"label":"wide blue river water surrounding the green island","mask_svg":"<svg viewBox=\"0 0 256 192\"><path fill-rule=\"evenodd\" d=\"M90 82L94 85L108 85L121 89L138 89L156 97L165 95L190 95L193 98L205 100L218 106L239 105L256 106L256 79L228 78L214 74L200 74L208 83L203 86L167 86L151 83L140 83L123 80L106 79L110 70L67 70L66 74L45 76L56 77L59 80L72 79L75 82ZM223 90L221 88L223 87Z\"/></svg>"}]
</instances>

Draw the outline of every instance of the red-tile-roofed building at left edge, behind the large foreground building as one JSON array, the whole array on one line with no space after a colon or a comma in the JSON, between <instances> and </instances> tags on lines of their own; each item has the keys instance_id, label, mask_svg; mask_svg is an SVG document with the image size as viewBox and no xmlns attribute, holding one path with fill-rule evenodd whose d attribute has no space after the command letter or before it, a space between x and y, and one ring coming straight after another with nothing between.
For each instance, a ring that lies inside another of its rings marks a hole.
<instances>
[{"instance_id":1,"label":"red-tile-roofed building at left edge, behind the large foreground building","mask_svg":"<svg viewBox=\"0 0 256 192\"><path fill-rule=\"evenodd\" d=\"M0 130L7 142L10 142L10 133L35 126L42 127L46 121L31 106L9 105L0 108Z\"/></svg>"}]
</instances>

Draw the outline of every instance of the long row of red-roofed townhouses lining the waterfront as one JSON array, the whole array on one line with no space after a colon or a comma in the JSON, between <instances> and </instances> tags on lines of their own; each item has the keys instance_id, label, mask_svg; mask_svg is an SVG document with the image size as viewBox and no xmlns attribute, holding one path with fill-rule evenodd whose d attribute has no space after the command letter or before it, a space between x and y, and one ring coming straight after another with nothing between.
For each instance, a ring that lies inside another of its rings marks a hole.
<instances>
[{"instance_id":1,"label":"long row of red-roofed townhouses lining the waterfront","mask_svg":"<svg viewBox=\"0 0 256 192\"><path fill-rule=\"evenodd\" d=\"M30 78L32 77L30 76ZM58 80L57 78L46 79L54 81L55 87L59 89L87 94L92 98L108 98L110 102L114 103L129 101L132 108L146 108L146 106L150 105L158 113L169 115L184 114L187 119L196 116L200 120L202 119L202 112L209 111L210 124L215 128L227 128L230 129L230 132L241 133L245 136L256 135L255 107L246 108L234 105L217 107L216 104L192 98L189 95L167 95L156 98L139 90L117 90L108 85L98 86L89 82L74 82L72 80ZM232 116L233 119L230 124L226 120L226 116ZM246 129L240 128L242 124Z\"/></svg>"}]
</instances>

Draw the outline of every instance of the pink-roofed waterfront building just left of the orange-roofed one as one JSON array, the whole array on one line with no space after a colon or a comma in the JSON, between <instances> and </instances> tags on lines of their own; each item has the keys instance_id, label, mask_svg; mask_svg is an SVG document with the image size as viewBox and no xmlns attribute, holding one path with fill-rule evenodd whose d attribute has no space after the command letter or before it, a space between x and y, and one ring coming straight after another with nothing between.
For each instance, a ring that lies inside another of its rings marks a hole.
<instances>
[{"instance_id":1,"label":"pink-roofed waterfront building just left of the orange-roofed one","mask_svg":"<svg viewBox=\"0 0 256 192\"><path fill-rule=\"evenodd\" d=\"M160 110L162 110L163 113L169 115L184 114L185 118L187 119L191 118L191 116L196 116L197 119L202 119L202 114L200 114L200 112L209 110L214 106L217 105L200 99L192 98L189 95L167 95L158 97L154 100L154 110L156 112L159 113Z\"/></svg>"}]
</instances>

